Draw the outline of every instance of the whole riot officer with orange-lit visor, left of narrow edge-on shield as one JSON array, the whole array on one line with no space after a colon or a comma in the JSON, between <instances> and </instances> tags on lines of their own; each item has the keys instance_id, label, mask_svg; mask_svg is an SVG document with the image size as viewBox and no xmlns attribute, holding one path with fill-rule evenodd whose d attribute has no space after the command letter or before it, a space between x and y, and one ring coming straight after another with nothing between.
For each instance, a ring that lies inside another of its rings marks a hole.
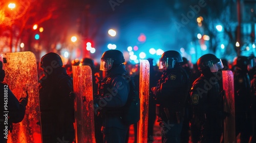
<instances>
[{"instance_id":1,"label":"whole riot officer with orange-lit visor, left of narrow edge-on shield","mask_svg":"<svg viewBox=\"0 0 256 143\"><path fill-rule=\"evenodd\" d=\"M106 71L106 77L100 82L99 97L94 100L95 110L99 111L103 124L103 142L125 142L129 125L122 122L123 113L130 85L126 81L126 70L122 52L109 50L102 54L100 70Z\"/></svg>"}]
</instances>

